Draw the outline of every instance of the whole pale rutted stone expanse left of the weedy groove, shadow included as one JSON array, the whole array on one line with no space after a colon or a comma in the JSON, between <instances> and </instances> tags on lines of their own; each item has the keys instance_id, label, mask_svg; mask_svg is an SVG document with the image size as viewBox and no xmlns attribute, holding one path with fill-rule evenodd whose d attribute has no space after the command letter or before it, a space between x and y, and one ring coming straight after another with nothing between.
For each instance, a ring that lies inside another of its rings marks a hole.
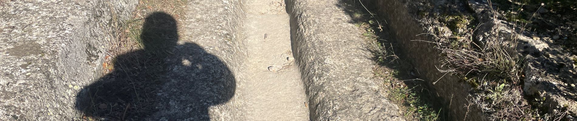
<instances>
[{"instance_id":1,"label":"whole pale rutted stone expanse left of the weedy groove, shadow included","mask_svg":"<svg viewBox=\"0 0 577 121\"><path fill-rule=\"evenodd\" d=\"M404 120L339 2L2 1L0 120Z\"/></svg>"}]
</instances>

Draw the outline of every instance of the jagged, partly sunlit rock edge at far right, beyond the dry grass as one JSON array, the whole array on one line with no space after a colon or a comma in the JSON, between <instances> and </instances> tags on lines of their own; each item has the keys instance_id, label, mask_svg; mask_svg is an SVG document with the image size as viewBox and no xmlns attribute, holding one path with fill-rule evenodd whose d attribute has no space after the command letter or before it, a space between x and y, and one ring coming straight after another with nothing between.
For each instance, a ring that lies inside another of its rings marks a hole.
<instances>
[{"instance_id":1,"label":"jagged, partly sunlit rock edge at far right, beyond the dry grass","mask_svg":"<svg viewBox=\"0 0 577 121\"><path fill-rule=\"evenodd\" d=\"M492 14L497 14L496 9L491 9L487 1L470 0L471 9L477 13L479 18L488 22L488 28L498 30L498 34L503 37L518 39L518 54L525 58L524 65L524 87L525 95L535 95L545 97L544 106L549 107L550 114L556 114L567 108L569 116L577 118L577 102L575 102L576 88L571 84L576 84L577 67L574 66L571 56L559 45L545 42L543 38L534 39L530 37L530 32L521 33L520 30L513 30L510 22L491 18ZM519 29L519 28L515 28ZM480 32L486 33L486 32ZM499 39L511 39L499 38ZM547 55L547 56L545 56ZM564 65L559 68L559 65ZM572 90L572 91L571 91ZM571 118L571 117L567 118Z\"/></svg>"}]
</instances>

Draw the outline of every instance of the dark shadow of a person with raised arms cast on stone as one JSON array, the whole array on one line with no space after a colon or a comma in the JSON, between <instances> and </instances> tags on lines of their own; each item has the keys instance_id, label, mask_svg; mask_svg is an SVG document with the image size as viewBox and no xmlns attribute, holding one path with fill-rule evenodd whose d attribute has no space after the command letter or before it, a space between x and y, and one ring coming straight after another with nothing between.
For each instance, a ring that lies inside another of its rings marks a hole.
<instances>
[{"instance_id":1,"label":"dark shadow of a person with raised arms cast on stone","mask_svg":"<svg viewBox=\"0 0 577 121\"><path fill-rule=\"evenodd\" d=\"M171 15L148 15L140 37L144 49L116 56L110 73L78 92L81 119L210 120L208 108L233 97L227 65L197 44L177 44Z\"/></svg>"}]
</instances>

